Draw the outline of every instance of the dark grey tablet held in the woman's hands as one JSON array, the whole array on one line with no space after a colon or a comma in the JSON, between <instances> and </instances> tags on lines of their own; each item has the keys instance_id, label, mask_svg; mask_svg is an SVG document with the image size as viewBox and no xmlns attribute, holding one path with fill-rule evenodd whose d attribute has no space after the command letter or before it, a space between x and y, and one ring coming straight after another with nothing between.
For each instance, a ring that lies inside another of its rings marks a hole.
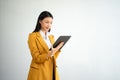
<instances>
[{"instance_id":1,"label":"dark grey tablet held in the woman's hands","mask_svg":"<svg viewBox=\"0 0 120 80\"><path fill-rule=\"evenodd\" d=\"M57 47L59 45L60 42L64 42L63 46L67 43L67 41L70 39L71 36L59 36L58 39L55 41L55 43L53 44L53 48ZM62 47L63 47L62 46ZM61 47L61 48L62 48ZM60 48L60 49L61 49ZM50 48L51 50L51 48Z\"/></svg>"}]
</instances>

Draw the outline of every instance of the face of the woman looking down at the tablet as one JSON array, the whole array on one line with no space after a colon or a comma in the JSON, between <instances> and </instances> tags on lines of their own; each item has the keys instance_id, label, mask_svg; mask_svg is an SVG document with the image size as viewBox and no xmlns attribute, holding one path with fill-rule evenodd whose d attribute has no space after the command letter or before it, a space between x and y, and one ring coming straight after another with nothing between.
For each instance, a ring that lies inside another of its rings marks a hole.
<instances>
[{"instance_id":1,"label":"face of the woman looking down at the tablet","mask_svg":"<svg viewBox=\"0 0 120 80\"><path fill-rule=\"evenodd\" d=\"M46 17L43 20L40 21L41 24L41 30L45 33L51 29L53 19L51 17Z\"/></svg>"}]
</instances>

